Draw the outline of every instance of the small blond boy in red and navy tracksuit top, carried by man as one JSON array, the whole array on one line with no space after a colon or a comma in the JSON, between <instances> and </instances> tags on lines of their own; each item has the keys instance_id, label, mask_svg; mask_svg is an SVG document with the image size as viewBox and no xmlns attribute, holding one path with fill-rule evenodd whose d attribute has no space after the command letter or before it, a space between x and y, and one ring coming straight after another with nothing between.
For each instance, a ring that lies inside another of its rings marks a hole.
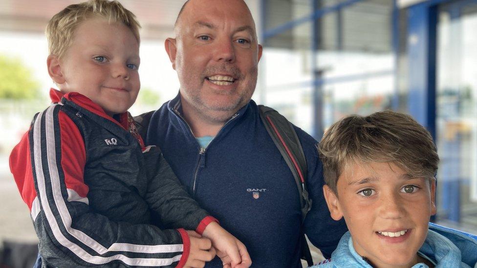
<instances>
[{"instance_id":1,"label":"small blond boy in red and navy tracksuit top, carried by man","mask_svg":"<svg viewBox=\"0 0 477 268\"><path fill-rule=\"evenodd\" d=\"M203 267L215 248L248 267L243 244L144 146L127 112L140 87L139 27L106 0L69 5L48 23L48 73L60 90L10 156L43 267Z\"/></svg>"}]
</instances>

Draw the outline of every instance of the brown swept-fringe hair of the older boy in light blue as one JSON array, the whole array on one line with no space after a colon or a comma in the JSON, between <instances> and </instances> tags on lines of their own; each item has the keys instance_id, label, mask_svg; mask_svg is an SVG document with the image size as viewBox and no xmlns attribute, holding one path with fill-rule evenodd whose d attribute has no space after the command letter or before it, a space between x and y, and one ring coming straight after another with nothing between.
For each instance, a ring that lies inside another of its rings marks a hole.
<instances>
[{"instance_id":1,"label":"brown swept-fringe hair of the older boy in light blue","mask_svg":"<svg viewBox=\"0 0 477 268\"><path fill-rule=\"evenodd\" d=\"M392 111L348 116L325 132L318 146L325 183L335 194L347 165L391 162L413 177L434 179L439 156L429 131Z\"/></svg>"}]
</instances>

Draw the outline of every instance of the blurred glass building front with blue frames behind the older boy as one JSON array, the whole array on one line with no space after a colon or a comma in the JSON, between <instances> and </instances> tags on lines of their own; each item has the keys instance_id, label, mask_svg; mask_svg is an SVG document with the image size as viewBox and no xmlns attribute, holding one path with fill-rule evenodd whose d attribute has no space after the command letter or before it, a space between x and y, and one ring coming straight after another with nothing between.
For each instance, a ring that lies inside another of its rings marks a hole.
<instances>
[{"instance_id":1,"label":"blurred glass building front with blue frames behind the older boy","mask_svg":"<svg viewBox=\"0 0 477 268\"><path fill-rule=\"evenodd\" d=\"M477 0L260 0L260 100L321 139L392 109L433 135L441 224L477 230Z\"/></svg>"}]
</instances>

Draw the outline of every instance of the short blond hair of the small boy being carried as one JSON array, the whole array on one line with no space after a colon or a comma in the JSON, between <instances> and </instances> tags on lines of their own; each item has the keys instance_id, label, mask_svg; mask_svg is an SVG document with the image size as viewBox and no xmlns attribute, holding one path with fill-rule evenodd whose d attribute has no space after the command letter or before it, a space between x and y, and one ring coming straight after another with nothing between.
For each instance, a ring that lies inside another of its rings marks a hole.
<instances>
[{"instance_id":1,"label":"short blond hair of the small boy being carried","mask_svg":"<svg viewBox=\"0 0 477 268\"><path fill-rule=\"evenodd\" d=\"M72 4L57 13L46 26L45 34L48 39L48 51L50 55L62 58L65 51L73 42L76 27L87 19L97 17L104 18L109 23L123 23L139 39L139 22L136 16L118 1L89 0L79 4Z\"/></svg>"}]
</instances>

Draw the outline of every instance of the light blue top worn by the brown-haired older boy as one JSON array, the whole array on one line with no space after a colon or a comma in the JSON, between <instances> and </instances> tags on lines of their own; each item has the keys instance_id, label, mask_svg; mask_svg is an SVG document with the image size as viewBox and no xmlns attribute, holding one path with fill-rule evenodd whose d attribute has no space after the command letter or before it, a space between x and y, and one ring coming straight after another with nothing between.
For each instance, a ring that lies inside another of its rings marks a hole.
<instances>
[{"instance_id":1,"label":"light blue top worn by the brown-haired older boy","mask_svg":"<svg viewBox=\"0 0 477 268\"><path fill-rule=\"evenodd\" d=\"M418 252L430 260L436 268L477 268L476 236L457 230L429 224L426 240ZM341 238L338 247L331 254L331 259L310 268L343 267L372 268L354 250L349 231ZM428 266L418 263L412 268L428 268Z\"/></svg>"}]
</instances>

